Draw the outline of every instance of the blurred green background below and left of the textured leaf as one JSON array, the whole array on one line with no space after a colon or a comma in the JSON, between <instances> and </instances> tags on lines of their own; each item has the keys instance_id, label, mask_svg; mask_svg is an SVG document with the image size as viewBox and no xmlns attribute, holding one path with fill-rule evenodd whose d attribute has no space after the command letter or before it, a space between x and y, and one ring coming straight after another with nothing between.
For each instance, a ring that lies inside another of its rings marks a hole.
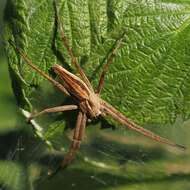
<instances>
[{"instance_id":1,"label":"blurred green background below and left of the textured leaf","mask_svg":"<svg viewBox=\"0 0 190 190\"><path fill-rule=\"evenodd\" d=\"M180 118L172 125L148 127L185 144L186 151L122 129L94 126L75 163L48 178L49 169L55 168L63 155L50 151L34 135L16 106L2 43L5 1L0 3L0 189L190 189L190 121Z\"/></svg>"}]
</instances>

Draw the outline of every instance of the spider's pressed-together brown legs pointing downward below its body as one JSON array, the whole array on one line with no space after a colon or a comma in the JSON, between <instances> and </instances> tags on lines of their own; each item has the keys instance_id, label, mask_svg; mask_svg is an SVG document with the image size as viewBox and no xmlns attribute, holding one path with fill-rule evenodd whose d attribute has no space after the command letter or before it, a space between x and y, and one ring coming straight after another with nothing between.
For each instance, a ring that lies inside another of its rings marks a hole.
<instances>
[{"instance_id":1,"label":"spider's pressed-together brown legs pointing downward below its body","mask_svg":"<svg viewBox=\"0 0 190 190\"><path fill-rule=\"evenodd\" d=\"M80 148L80 144L85 133L86 120L87 120L86 114L80 111L78 114L77 123L74 130L72 144L69 148L68 153L65 155L63 162L61 163L61 168L67 167L74 160L76 153Z\"/></svg>"}]
</instances>

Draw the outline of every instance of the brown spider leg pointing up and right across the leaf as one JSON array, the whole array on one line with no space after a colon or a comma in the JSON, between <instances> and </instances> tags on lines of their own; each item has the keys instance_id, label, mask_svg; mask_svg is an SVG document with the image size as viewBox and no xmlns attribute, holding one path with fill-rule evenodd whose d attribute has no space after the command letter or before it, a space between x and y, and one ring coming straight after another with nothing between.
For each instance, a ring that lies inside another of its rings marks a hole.
<instances>
[{"instance_id":1,"label":"brown spider leg pointing up and right across the leaf","mask_svg":"<svg viewBox=\"0 0 190 190\"><path fill-rule=\"evenodd\" d=\"M106 64L103 67L103 71L102 71L102 73L100 75L98 87L97 87L97 90L96 90L96 93L98 93L98 94L100 94L101 90L103 89L104 80L105 80L105 74L107 73L109 66L113 62L113 59L116 56L116 53L117 53L119 47L121 46L123 37L124 37L124 34L122 35L122 37L119 40L116 41L115 47L113 48L113 50L111 51L111 53L107 57L107 62L106 62Z\"/></svg>"}]
</instances>

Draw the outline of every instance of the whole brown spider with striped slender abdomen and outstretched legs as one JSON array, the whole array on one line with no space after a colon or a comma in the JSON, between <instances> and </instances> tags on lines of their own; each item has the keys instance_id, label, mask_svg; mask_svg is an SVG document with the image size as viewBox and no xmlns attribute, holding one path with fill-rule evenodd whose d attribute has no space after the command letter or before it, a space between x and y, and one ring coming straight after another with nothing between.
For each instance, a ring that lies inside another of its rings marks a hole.
<instances>
[{"instance_id":1,"label":"whole brown spider with striped slender abdomen and outstretched legs","mask_svg":"<svg viewBox=\"0 0 190 190\"><path fill-rule=\"evenodd\" d=\"M60 31L60 36L62 39L62 43L66 48L70 58L71 63L76 68L77 72L80 75L80 78L76 75L70 73L63 67L58 64L53 65L53 71L58 75L58 77L63 81L63 83L59 83L49 75L41 71L37 68L32 61L27 57L27 55L21 51L13 42L11 45L14 46L16 51L21 55L22 59L36 72L46 78L49 82L53 84L53 86L57 87L61 92L63 92L67 96L71 96L76 100L76 105L64 105L53 108L44 109L41 112L32 114L29 117L29 121L43 115L45 113L52 112L64 112L67 110L79 110L76 126L74 129L74 135L72 139L71 146L69 151L64 157L64 160L61 163L62 167L68 166L73 159L75 158L76 152L80 148L81 141L83 139L85 133L85 127L87 119L97 118L98 116L106 117L111 116L114 120L118 121L120 124L125 126L127 129L134 130L142 135L153 139L157 142L167 144L170 146L178 147L181 149L185 149L183 145L176 144L166 138L163 138L147 129L144 129L137 124L130 121L125 115L116 110L112 105L101 99L100 93L104 85L105 74L108 71L109 65L113 62L113 59L116 55L118 48L121 46L122 38L116 41L116 45L113 48L112 52L107 57L107 62L103 66L103 71L100 75L99 84L96 90L93 89L90 81L85 75L84 71L80 67L77 58L74 56L72 48L69 46L68 40L65 36L63 26L60 23L59 17L57 16L58 28Z\"/></svg>"}]
</instances>

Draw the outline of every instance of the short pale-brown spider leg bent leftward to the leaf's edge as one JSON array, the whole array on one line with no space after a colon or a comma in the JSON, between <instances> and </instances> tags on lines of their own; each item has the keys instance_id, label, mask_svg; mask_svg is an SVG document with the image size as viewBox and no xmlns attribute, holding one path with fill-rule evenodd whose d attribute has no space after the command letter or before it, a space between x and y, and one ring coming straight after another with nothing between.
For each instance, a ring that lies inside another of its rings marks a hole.
<instances>
[{"instance_id":1,"label":"short pale-brown spider leg bent leftward to the leaf's edge","mask_svg":"<svg viewBox=\"0 0 190 190\"><path fill-rule=\"evenodd\" d=\"M28 122L30 122L32 119L41 116L45 113L56 113L56 112L63 112L63 111L69 111L69 110L76 110L78 109L77 105L64 105L64 106L57 106L57 107L52 107L52 108L47 108L44 109L38 113L32 114L29 118L28 118Z\"/></svg>"}]
</instances>

